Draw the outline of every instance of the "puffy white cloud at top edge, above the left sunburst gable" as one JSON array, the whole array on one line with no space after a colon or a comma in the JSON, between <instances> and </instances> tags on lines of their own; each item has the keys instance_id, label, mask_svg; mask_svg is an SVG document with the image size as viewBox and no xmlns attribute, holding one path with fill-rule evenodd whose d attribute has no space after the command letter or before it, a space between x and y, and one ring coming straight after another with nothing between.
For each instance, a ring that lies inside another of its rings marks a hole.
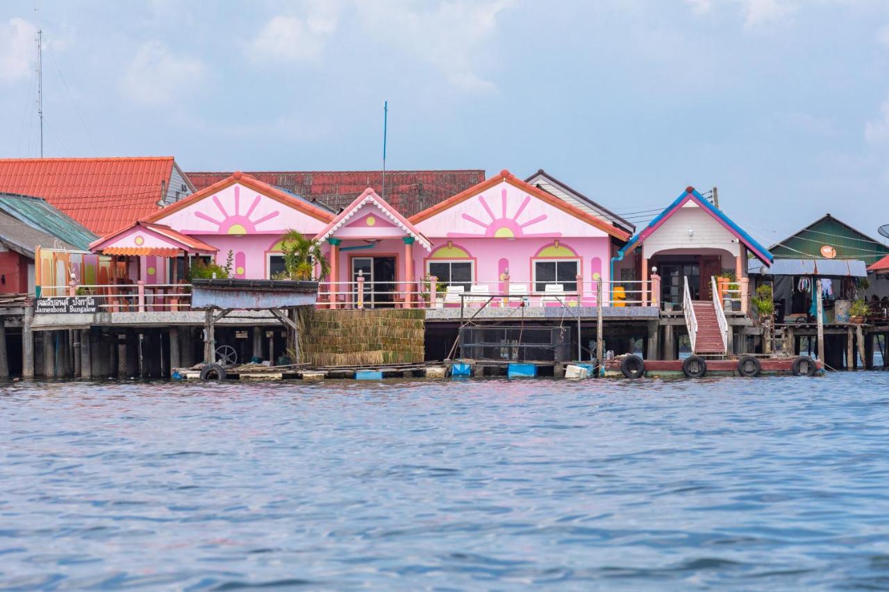
<instances>
[{"instance_id":1,"label":"puffy white cloud at top edge, above the left sunburst gable","mask_svg":"<svg viewBox=\"0 0 889 592\"><path fill-rule=\"evenodd\" d=\"M246 45L255 61L313 62L318 60L327 39L336 30L339 2L314 1L304 4L304 14L279 14L268 20L259 35Z\"/></svg>"}]
</instances>

